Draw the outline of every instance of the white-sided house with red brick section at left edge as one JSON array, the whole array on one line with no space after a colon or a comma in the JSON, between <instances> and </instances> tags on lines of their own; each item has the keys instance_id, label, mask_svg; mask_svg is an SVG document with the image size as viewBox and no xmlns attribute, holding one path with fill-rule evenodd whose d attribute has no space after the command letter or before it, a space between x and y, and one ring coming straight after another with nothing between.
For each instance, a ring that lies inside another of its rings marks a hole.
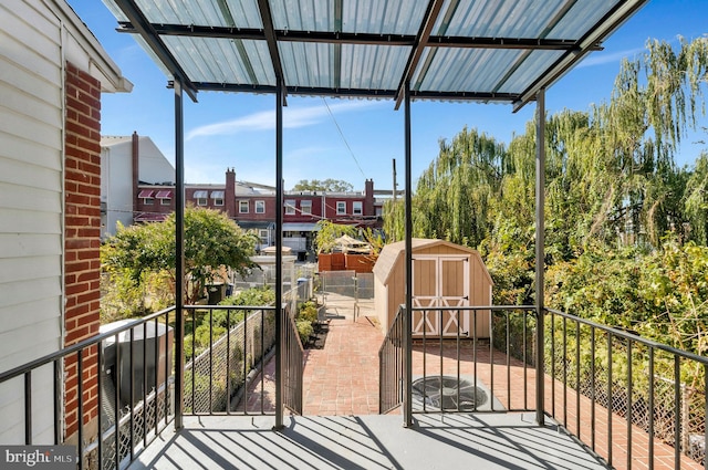
<instances>
[{"instance_id":1,"label":"white-sided house with red brick section at left edge","mask_svg":"<svg viewBox=\"0 0 708 470\"><path fill-rule=\"evenodd\" d=\"M64 0L17 0L1 10L4 373L98 333L101 96L129 92L133 85ZM0 443L72 442L80 424L85 439L95 437L95 348L82 366L83 380L75 359L35 370L31 407L22 379L2 383ZM24 425L25 409L34 414L31 426ZM55 421L56 410L61 419Z\"/></svg>"}]
</instances>

